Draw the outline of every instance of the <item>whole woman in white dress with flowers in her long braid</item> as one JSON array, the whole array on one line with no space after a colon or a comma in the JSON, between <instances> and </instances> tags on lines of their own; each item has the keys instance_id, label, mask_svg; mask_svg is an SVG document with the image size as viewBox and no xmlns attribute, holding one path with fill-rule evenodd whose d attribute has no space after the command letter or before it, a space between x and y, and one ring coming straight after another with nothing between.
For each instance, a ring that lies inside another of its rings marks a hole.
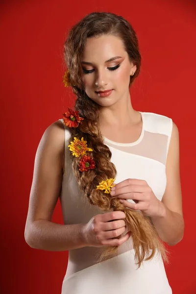
<instances>
[{"instance_id":1,"label":"whole woman in white dress with flowers in her long braid","mask_svg":"<svg viewBox=\"0 0 196 294\"><path fill-rule=\"evenodd\" d=\"M35 158L25 240L69 250L62 294L171 294L164 242L183 238L178 129L133 109L141 55L132 26L94 12L65 42L75 110L45 131ZM51 222L58 197L64 225Z\"/></svg>"}]
</instances>

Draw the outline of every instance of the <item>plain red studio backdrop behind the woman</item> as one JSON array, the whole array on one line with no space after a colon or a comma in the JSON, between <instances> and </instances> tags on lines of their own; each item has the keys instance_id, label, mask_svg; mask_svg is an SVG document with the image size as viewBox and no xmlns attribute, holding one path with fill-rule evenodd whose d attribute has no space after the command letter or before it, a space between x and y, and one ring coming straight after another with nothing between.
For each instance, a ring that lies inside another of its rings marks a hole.
<instances>
[{"instance_id":1,"label":"plain red studio backdrop behind the woman","mask_svg":"<svg viewBox=\"0 0 196 294\"><path fill-rule=\"evenodd\" d=\"M1 293L61 293L68 252L30 248L25 220L39 141L74 102L62 84L63 43L93 11L122 15L137 32L142 70L131 89L134 109L172 117L178 126L185 234L170 247L166 271L173 294L196 294L196 4L190 0L1 1ZM53 221L62 223L59 202Z\"/></svg>"}]
</instances>

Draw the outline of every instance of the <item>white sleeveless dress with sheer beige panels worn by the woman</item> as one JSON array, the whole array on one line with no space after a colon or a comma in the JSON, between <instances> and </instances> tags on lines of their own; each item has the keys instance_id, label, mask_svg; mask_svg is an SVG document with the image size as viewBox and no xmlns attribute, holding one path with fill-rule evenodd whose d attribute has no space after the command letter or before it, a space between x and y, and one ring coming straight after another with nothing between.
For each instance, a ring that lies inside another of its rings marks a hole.
<instances>
[{"instance_id":1,"label":"white sleeveless dress with sheer beige panels worn by the woman","mask_svg":"<svg viewBox=\"0 0 196 294\"><path fill-rule=\"evenodd\" d=\"M117 143L104 137L115 164L115 183L127 178L146 180L161 200L166 189L166 159L172 134L172 119L150 112L141 112L142 132L133 143ZM60 119L63 123L63 119ZM64 123L63 123L64 125ZM70 130L65 127L65 172L60 195L65 224L87 223L104 213L83 197L74 177L70 149ZM80 138L81 139L81 138ZM129 202L135 203L132 199ZM122 235L125 235L126 230ZM160 254L144 261L139 269L134 260L130 237L118 248L118 255L98 262L100 247L69 250L67 271L61 294L172 294Z\"/></svg>"}]
</instances>

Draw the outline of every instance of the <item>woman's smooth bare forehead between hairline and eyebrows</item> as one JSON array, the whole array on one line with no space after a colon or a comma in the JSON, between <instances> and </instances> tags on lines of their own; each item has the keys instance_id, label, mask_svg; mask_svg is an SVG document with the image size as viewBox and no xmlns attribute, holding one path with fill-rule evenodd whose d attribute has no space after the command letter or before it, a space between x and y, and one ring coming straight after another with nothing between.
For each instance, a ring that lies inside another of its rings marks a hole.
<instances>
[{"instance_id":1,"label":"woman's smooth bare forehead between hairline and eyebrows","mask_svg":"<svg viewBox=\"0 0 196 294\"><path fill-rule=\"evenodd\" d=\"M82 61L104 63L113 56L126 56L123 42L112 35L87 38L85 49L82 53Z\"/></svg>"}]
</instances>

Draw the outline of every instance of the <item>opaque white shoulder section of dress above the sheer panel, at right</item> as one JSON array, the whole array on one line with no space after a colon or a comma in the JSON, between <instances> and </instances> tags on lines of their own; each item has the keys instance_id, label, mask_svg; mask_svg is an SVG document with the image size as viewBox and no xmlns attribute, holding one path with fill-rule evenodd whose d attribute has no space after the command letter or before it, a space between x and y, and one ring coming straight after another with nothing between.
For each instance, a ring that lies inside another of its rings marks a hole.
<instances>
[{"instance_id":1,"label":"opaque white shoulder section of dress above the sheer panel, at right","mask_svg":"<svg viewBox=\"0 0 196 294\"><path fill-rule=\"evenodd\" d=\"M172 118L153 112L143 112L143 117L146 131L172 136Z\"/></svg>"}]
</instances>

